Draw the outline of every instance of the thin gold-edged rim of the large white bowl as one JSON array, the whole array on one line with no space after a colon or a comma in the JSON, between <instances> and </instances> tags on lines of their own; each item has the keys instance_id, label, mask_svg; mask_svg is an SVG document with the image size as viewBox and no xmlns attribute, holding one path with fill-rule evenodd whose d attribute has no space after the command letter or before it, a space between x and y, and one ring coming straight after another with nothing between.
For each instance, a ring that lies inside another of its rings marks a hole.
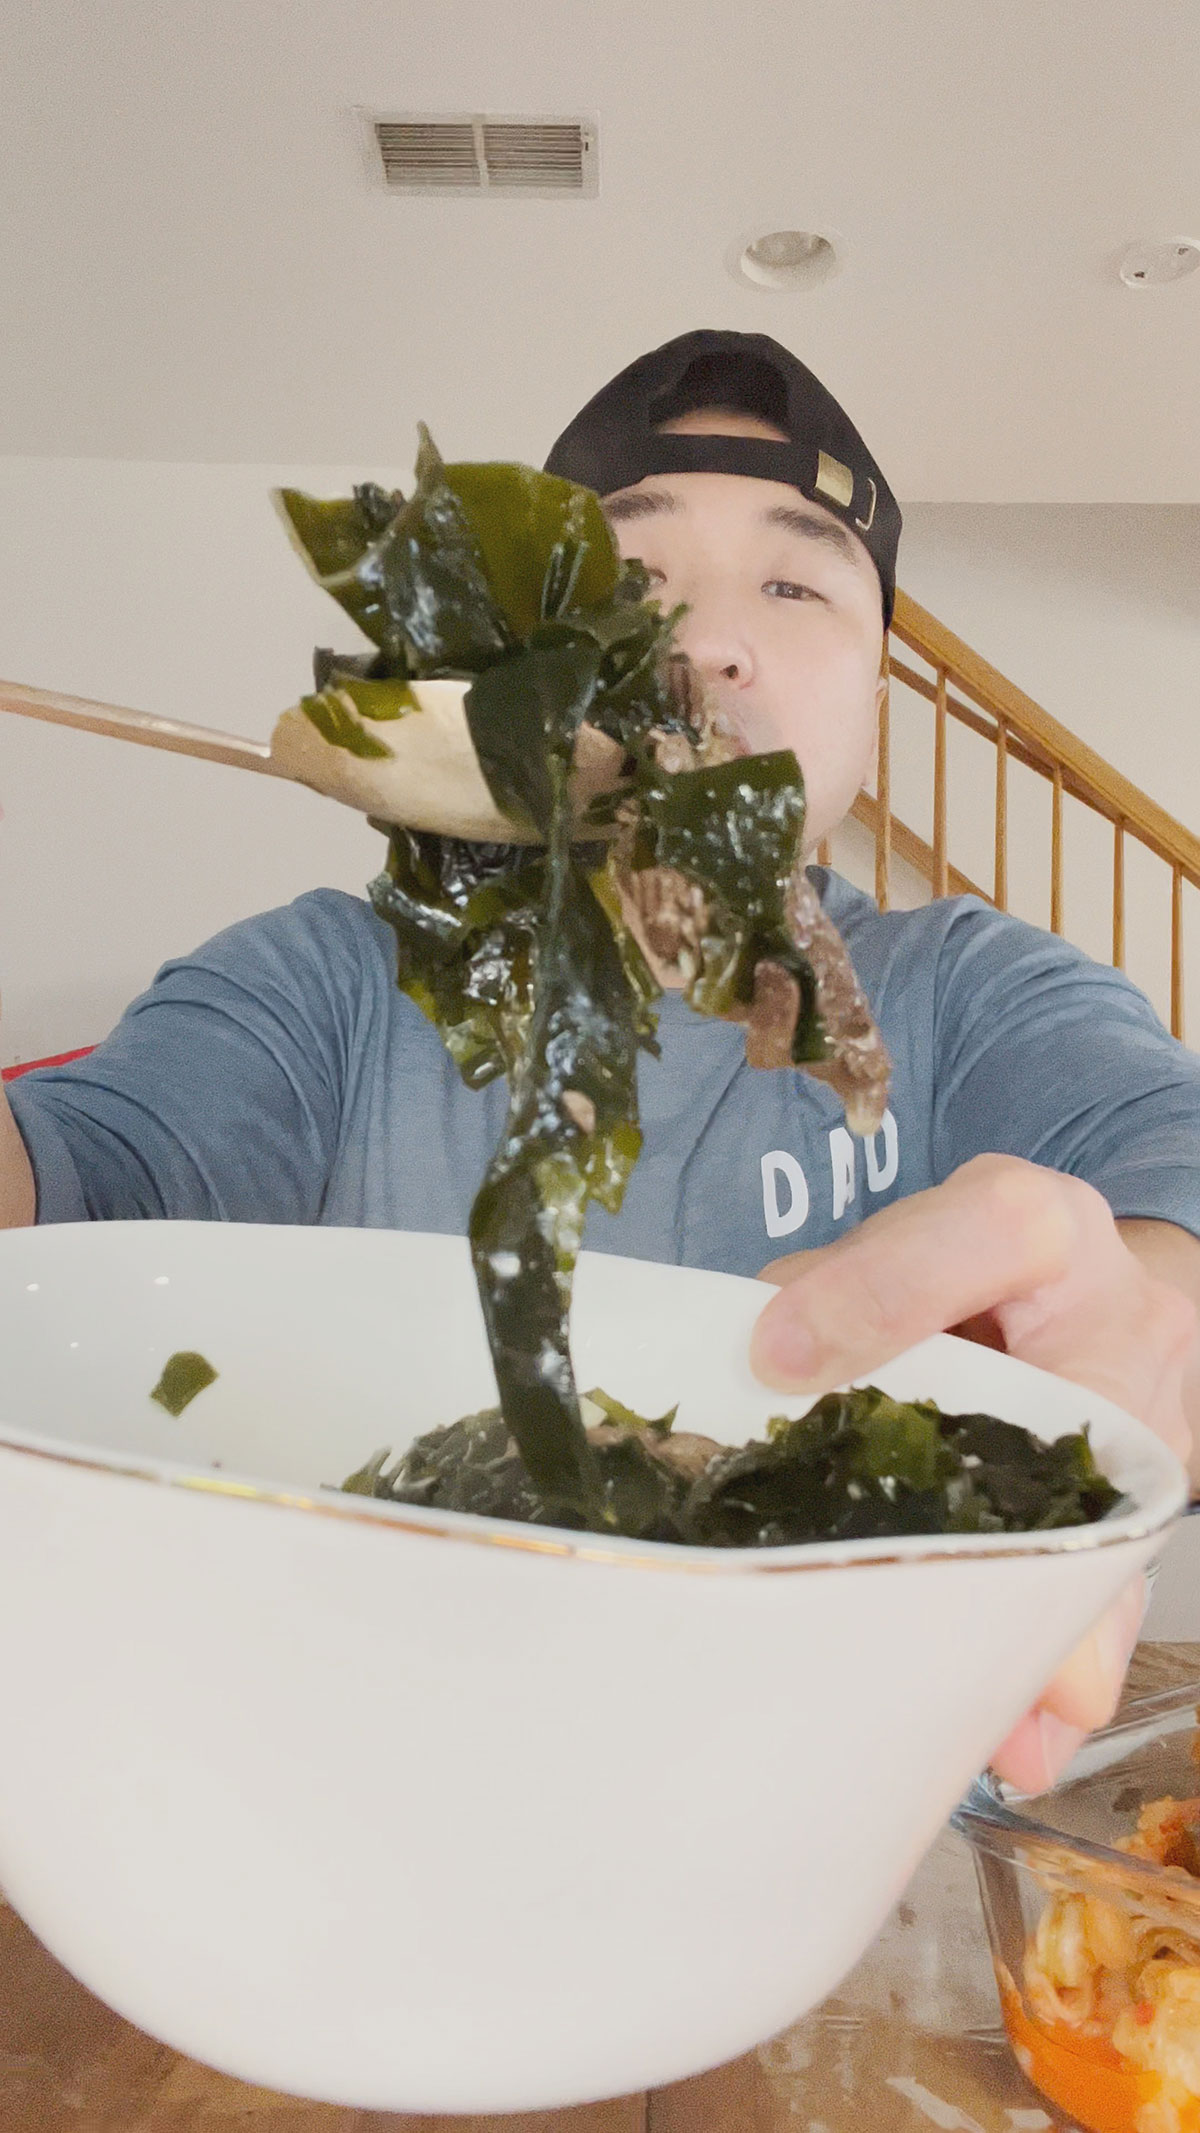
<instances>
[{"instance_id":1,"label":"thin gold-edged rim of the large white bowl","mask_svg":"<svg viewBox=\"0 0 1200 2133\"><path fill-rule=\"evenodd\" d=\"M53 1231L72 1233L96 1233L100 1224L96 1222L68 1222L68 1224L47 1224L23 1231L6 1231L0 1237L0 1250L6 1248L6 1239L21 1237L26 1244L30 1239L47 1239ZM188 1231L213 1231L213 1229L283 1229L286 1235L294 1235L292 1224L211 1224L211 1222L107 1222L107 1231L136 1231L145 1237L147 1229L188 1229ZM352 1229L350 1233L337 1226L328 1226L328 1235L354 1235L362 1237L362 1229ZM396 1235L388 1231L388 1235ZM405 1231L399 1235L426 1235L422 1231ZM439 1239L445 1233L428 1233ZM34 1246L36 1248L36 1246ZM625 1265L644 1265L644 1261L629 1258L616 1252L582 1252L584 1258L622 1258ZM744 1288L759 1286L746 1276L723 1276L718 1269L682 1269L703 1273L710 1280L731 1280ZM955 1335L936 1335L936 1340L953 1340ZM893 1359L893 1361L899 1361ZM1023 1363L1015 1357L998 1357L1006 1365L1015 1365L1021 1372L1034 1372L1036 1376L1049 1376L1036 1372L1036 1365ZM882 1365L880 1365L882 1367ZM855 1382L867 1382L872 1374ZM1051 1384L1055 1380L1051 1378ZM1076 1386L1076 1391L1081 1391ZM797 1395L804 1397L804 1395ZM290 1487L286 1482L273 1480L262 1474L243 1472L239 1468L205 1468L194 1459L166 1459L153 1453L119 1450L115 1446L96 1446L68 1438L47 1438L38 1431L23 1431L0 1421L0 1455L9 1453L13 1457L51 1459L60 1465L109 1474L121 1480L156 1482L160 1487L185 1489L196 1495L226 1497L230 1502L243 1504L264 1504L273 1510L305 1512L320 1519L343 1519L354 1525L367 1525L375 1531L396 1531L409 1538L424 1540L458 1540L471 1546L490 1546L516 1555L533 1555L544 1559L580 1561L605 1568L622 1570L659 1570L671 1572L676 1576L793 1576L801 1572L821 1570L874 1570L893 1568L904 1563L951 1563L951 1561L1008 1561L1008 1559L1032 1559L1049 1555L1081 1555L1096 1549L1113 1546L1136 1546L1164 1534L1187 1504L1187 1476L1179 1459L1168 1450L1168 1446L1136 1416L1117 1408L1115 1401L1100 1393L1089 1395L1098 1410L1123 1433L1125 1455L1136 1453L1142 1474L1138 1476L1138 1493L1125 1487L1130 1497L1123 1510L1110 1512L1106 1519L1098 1519L1089 1525L1061 1525L1049 1529L1036 1529L1029 1534L899 1534L889 1540L804 1540L789 1546L761 1546L761 1549L701 1549L682 1546L678 1542L665 1540L629 1540L625 1536L603 1536L603 1534L582 1534L569 1527L552 1525L526 1525L516 1519L488 1519L477 1512L454 1512L454 1510L426 1510L416 1504L390 1504L382 1497L352 1495L337 1487ZM1098 1414L1100 1418L1100 1414Z\"/></svg>"}]
</instances>

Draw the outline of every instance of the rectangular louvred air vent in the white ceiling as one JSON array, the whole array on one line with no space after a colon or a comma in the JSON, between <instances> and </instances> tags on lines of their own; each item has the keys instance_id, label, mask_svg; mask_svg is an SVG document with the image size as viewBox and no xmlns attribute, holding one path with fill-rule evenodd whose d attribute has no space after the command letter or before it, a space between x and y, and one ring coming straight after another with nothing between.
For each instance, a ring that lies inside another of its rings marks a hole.
<instances>
[{"instance_id":1,"label":"rectangular louvred air vent in the white ceiling","mask_svg":"<svg viewBox=\"0 0 1200 2133\"><path fill-rule=\"evenodd\" d=\"M503 192L561 201L597 194L588 119L364 115L371 171L388 192Z\"/></svg>"}]
</instances>

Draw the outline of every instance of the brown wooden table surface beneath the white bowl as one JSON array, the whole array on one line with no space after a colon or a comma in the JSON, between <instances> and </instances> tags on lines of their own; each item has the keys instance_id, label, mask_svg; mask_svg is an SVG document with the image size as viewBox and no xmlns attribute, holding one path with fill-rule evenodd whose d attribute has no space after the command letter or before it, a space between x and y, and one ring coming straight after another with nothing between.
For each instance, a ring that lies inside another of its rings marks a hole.
<instances>
[{"instance_id":1,"label":"brown wooden table surface beneath the white bowl","mask_svg":"<svg viewBox=\"0 0 1200 2133\"><path fill-rule=\"evenodd\" d=\"M1130 1694L1200 1674L1200 1645L1142 1645ZM1070 2133L1000 2033L966 1845L946 1832L840 1992L716 2073L514 2118L296 2103L121 2022L0 1905L2 2133Z\"/></svg>"}]
</instances>

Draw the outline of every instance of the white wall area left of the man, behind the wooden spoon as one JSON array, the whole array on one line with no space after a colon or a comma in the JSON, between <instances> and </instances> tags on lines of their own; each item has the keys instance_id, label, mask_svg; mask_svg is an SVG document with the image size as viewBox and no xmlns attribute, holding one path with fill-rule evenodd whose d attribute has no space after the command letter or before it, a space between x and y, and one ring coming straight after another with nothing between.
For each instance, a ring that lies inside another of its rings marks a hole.
<instances>
[{"instance_id":1,"label":"white wall area left of the man, behind the wooden spoon","mask_svg":"<svg viewBox=\"0 0 1200 2133\"><path fill-rule=\"evenodd\" d=\"M296 561L279 480L382 469L0 461L0 674L266 736L354 625ZM384 469L386 471L386 469ZM0 1058L90 1043L158 964L382 838L275 779L0 715Z\"/></svg>"}]
</instances>

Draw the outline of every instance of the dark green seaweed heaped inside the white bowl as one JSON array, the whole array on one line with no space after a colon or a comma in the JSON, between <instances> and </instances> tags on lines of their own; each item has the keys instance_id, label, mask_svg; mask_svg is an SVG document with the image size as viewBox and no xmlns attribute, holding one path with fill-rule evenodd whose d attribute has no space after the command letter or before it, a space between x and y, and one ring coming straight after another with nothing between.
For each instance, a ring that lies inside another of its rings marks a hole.
<instances>
[{"instance_id":1,"label":"dark green seaweed heaped inside the white bowl","mask_svg":"<svg viewBox=\"0 0 1200 2133\"><path fill-rule=\"evenodd\" d=\"M942 1414L878 1386L827 1393L767 1438L725 1446L646 1421L607 1393L582 1395L595 1521L541 1493L499 1408L382 1450L341 1487L426 1510L582 1527L627 1540L769 1549L902 1534L1012 1534L1104 1519L1123 1499L1087 1431L1044 1444L991 1414Z\"/></svg>"}]
</instances>

